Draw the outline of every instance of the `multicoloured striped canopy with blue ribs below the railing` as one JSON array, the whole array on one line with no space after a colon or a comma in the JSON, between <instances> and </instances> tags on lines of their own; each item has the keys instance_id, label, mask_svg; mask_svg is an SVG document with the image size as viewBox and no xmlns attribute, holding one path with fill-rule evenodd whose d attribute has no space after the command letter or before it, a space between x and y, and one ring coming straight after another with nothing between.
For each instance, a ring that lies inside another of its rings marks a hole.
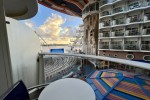
<instances>
[{"instance_id":1,"label":"multicoloured striped canopy with blue ribs below the railing","mask_svg":"<svg viewBox=\"0 0 150 100\"><path fill-rule=\"evenodd\" d=\"M97 100L150 100L150 78L118 70L100 70L86 81Z\"/></svg>"}]
</instances>

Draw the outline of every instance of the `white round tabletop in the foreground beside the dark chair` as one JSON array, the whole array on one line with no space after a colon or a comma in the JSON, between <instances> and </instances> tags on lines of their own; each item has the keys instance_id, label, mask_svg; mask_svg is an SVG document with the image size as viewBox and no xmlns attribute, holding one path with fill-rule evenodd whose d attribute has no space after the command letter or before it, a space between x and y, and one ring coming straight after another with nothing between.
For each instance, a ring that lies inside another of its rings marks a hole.
<instances>
[{"instance_id":1,"label":"white round tabletop in the foreground beside the dark chair","mask_svg":"<svg viewBox=\"0 0 150 100\"><path fill-rule=\"evenodd\" d=\"M50 83L40 94L39 100L96 100L95 93L86 82L65 78Z\"/></svg>"}]
</instances>

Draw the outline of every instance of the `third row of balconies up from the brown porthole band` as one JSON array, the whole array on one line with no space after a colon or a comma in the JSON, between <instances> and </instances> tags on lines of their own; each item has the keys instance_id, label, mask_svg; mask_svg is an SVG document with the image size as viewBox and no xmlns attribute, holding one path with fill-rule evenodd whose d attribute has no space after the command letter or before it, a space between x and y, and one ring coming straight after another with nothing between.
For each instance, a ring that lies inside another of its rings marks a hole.
<instances>
[{"instance_id":1,"label":"third row of balconies up from the brown porthole band","mask_svg":"<svg viewBox=\"0 0 150 100\"><path fill-rule=\"evenodd\" d=\"M105 28L105 27L113 27L113 26L121 26L121 25L130 25L132 23L137 23L137 22L149 22L150 21L150 14L147 14L144 16L144 19L139 18L138 16L136 17L129 17L126 20L125 19L116 19L116 20L108 20L108 21L103 21L100 23L99 28Z\"/></svg>"}]
</instances>

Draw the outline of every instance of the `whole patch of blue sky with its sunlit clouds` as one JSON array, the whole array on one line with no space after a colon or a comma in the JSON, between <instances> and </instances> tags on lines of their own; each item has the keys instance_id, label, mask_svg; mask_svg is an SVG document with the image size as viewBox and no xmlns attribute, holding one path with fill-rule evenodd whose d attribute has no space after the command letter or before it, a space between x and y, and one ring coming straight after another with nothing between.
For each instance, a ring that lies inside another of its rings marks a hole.
<instances>
[{"instance_id":1,"label":"whole patch of blue sky with its sunlit clouds","mask_svg":"<svg viewBox=\"0 0 150 100\"><path fill-rule=\"evenodd\" d=\"M38 13L24 20L28 27L37 30L47 44L69 44L76 36L76 29L83 24L82 18L66 15L38 4Z\"/></svg>"}]
</instances>

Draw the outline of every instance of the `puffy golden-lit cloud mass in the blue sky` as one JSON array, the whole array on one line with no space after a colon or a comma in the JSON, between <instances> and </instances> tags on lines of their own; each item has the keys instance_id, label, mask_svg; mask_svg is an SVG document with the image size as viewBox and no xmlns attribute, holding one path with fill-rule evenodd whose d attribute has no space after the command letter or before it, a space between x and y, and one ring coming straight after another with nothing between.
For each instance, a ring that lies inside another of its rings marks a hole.
<instances>
[{"instance_id":1,"label":"puffy golden-lit cloud mass in the blue sky","mask_svg":"<svg viewBox=\"0 0 150 100\"><path fill-rule=\"evenodd\" d=\"M26 20L24 23L36 30L36 34L43 38L48 44L69 44L70 39L76 36L77 28L74 29L72 26L63 27L66 23L66 19L58 14L52 13L38 28L30 20Z\"/></svg>"}]
</instances>

